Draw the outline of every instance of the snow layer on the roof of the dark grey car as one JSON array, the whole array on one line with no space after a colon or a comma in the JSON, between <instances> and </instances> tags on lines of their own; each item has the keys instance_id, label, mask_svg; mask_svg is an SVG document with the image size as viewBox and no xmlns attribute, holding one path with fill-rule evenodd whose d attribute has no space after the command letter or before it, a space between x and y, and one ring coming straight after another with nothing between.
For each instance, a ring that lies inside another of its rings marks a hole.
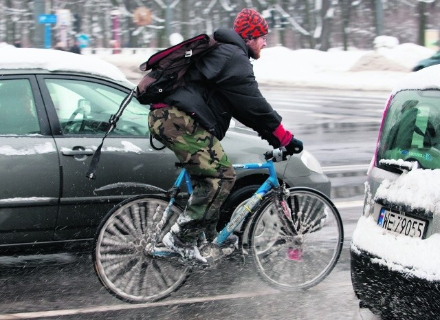
<instances>
[{"instance_id":1,"label":"snow layer on the roof of the dark grey car","mask_svg":"<svg viewBox=\"0 0 440 320\"><path fill-rule=\"evenodd\" d=\"M128 82L118 67L95 56L52 49L2 47L0 57L0 70L80 72Z\"/></svg>"}]
</instances>

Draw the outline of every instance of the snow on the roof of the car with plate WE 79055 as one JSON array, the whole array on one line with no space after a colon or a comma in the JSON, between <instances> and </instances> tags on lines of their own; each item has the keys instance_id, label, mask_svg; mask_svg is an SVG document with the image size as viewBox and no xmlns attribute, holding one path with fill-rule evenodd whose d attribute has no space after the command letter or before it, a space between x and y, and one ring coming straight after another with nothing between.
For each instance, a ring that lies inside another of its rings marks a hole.
<instances>
[{"instance_id":1,"label":"snow on the roof of the car with plate WE 79055","mask_svg":"<svg viewBox=\"0 0 440 320\"><path fill-rule=\"evenodd\" d=\"M410 72L397 82L393 94L402 90L440 89L440 65L432 65L416 72Z\"/></svg>"}]
</instances>

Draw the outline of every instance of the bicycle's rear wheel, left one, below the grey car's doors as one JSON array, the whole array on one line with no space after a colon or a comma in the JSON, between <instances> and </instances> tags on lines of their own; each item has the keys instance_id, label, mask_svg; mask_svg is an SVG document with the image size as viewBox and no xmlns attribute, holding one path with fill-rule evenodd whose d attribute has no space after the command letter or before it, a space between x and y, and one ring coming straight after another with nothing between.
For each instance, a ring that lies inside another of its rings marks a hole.
<instances>
[{"instance_id":1,"label":"bicycle's rear wheel, left one, below the grey car's doors","mask_svg":"<svg viewBox=\"0 0 440 320\"><path fill-rule=\"evenodd\" d=\"M144 252L144 240L152 235L162 217L155 213L167 205L168 198L161 195L124 200L107 213L97 229L92 254L96 275L122 301L158 301L177 290L190 275L190 268L175 263L173 258L155 258ZM181 208L173 204L172 211L159 240L177 220Z\"/></svg>"}]
</instances>

